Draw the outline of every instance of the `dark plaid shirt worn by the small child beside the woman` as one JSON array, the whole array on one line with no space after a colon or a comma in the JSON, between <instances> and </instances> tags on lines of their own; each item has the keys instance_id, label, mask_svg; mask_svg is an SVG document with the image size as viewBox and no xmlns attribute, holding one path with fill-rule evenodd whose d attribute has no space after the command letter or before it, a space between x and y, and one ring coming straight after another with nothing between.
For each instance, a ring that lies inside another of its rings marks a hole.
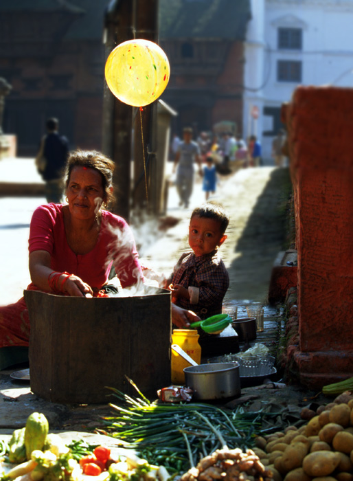
<instances>
[{"instance_id":1,"label":"dark plaid shirt worn by the small child beside the woman","mask_svg":"<svg viewBox=\"0 0 353 481\"><path fill-rule=\"evenodd\" d=\"M190 293L190 300L179 298L175 304L206 319L222 312L229 276L218 251L200 257L189 251L174 267L172 284L180 284Z\"/></svg>"}]
</instances>

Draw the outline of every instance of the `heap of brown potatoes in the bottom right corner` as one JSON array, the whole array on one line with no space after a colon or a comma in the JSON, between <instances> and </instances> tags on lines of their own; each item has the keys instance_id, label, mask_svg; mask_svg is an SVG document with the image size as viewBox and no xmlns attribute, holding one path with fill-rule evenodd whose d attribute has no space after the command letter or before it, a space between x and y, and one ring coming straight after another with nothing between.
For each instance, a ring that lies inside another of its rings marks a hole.
<instances>
[{"instance_id":1,"label":"heap of brown potatoes in the bottom right corner","mask_svg":"<svg viewBox=\"0 0 353 481\"><path fill-rule=\"evenodd\" d=\"M353 395L320 406L308 423L258 436L253 449L275 481L353 481ZM308 412L302 413L308 416ZM310 414L311 416L311 414Z\"/></svg>"}]
</instances>

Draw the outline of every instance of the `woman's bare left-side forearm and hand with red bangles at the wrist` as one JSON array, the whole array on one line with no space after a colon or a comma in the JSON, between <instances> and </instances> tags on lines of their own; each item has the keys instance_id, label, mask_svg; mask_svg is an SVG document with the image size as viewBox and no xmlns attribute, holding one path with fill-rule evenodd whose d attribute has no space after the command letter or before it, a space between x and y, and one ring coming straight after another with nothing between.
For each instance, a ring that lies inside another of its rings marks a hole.
<instances>
[{"instance_id":1,"label":"woman's bare left-side forearm and hand with red bangles at the wrist","mask_svg":"<svg viewBox=\"0 0 353 481\"><path fill-rule=\"evenodd\" d=\"M91 294L91 287L77 276L69 273L57 273L50 267L50 254L47 251L30 253L30 276L33 284L44 291L56 291L83 297ZM52 280L52 282L49 282Z\"/></svg>"}]
</instances>

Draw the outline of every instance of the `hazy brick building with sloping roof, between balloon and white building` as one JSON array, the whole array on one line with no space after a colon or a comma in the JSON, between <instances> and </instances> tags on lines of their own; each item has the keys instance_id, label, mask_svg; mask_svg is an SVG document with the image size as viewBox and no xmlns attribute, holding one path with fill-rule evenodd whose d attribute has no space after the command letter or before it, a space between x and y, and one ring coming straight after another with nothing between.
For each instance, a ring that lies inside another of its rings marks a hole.
<instances>
[{"instance_id":1,"label":"hazy brick building with sloping roof, between balloon and white building","mask_svg":"<svg viewBox=\"0 0 353 481\"><path fill-rule=\"evenodd\" d=\"M171 66L163 100L179 113L174 131L211 131L226 121L241 132L249 19L249 0L160 0L160 45Z\"/></svg>"}]
</instances>

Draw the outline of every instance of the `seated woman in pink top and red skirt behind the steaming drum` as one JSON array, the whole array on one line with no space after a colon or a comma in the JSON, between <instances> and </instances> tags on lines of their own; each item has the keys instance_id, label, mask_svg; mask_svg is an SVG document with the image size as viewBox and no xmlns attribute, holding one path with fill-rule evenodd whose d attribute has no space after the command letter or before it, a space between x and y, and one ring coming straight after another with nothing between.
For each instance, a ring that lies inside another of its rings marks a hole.
<instances>
[{"instance_id":1,"label":"seated woman in pink top and red skirt behind the steaming drum","mask_svg":"<svg viewBox=\"0 0 353 481\"><path fill-rule=\"evenodd\" d=\"M30 225L27 289L64 295L104 295L112 265L122 287L144 281L126 221L104 210L114 163L97 151L76 150L67 161L67 204L38 207ZM28 346L25 300L0 307L0 347Z\"/></svg>"}]
</instances>

